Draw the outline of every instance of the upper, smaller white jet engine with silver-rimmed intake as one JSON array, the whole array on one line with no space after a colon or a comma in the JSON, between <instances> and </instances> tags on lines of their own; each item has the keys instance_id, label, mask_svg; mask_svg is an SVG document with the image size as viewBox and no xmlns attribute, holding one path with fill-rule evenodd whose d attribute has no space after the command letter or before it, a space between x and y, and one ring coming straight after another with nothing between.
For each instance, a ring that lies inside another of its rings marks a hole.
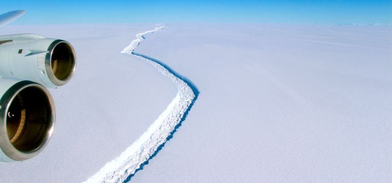
<instances>
[{"instance_id":1,"label":"upper, smaller white jet engine with silver-rimmed intake","mask_svg":"<svg viewBox=\"0 0 392 183\"><path fill-rule=\"evenodd\" d=\"M66 84L76 68L71 44L33 34L0 36L0 76L47 87Z\"/></svg>"}]
</instances>

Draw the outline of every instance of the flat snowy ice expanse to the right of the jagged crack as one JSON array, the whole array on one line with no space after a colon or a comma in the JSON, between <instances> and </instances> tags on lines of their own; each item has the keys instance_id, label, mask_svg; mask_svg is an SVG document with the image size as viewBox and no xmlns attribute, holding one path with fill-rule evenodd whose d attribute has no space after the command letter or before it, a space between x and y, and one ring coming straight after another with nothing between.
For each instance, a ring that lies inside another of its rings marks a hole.
<instances>
[{"instance_id":1,"label":"flat snowy ice expanse to the right of the jagged crack","mask_svg":"<svg viewBox=\"0 0 392 183\"><path fill-rule=\"evenodd\" d=\"M200 95L131 182L392 182L392 27L169 26L137 52Z\"/></svg>"}]
</instances>

